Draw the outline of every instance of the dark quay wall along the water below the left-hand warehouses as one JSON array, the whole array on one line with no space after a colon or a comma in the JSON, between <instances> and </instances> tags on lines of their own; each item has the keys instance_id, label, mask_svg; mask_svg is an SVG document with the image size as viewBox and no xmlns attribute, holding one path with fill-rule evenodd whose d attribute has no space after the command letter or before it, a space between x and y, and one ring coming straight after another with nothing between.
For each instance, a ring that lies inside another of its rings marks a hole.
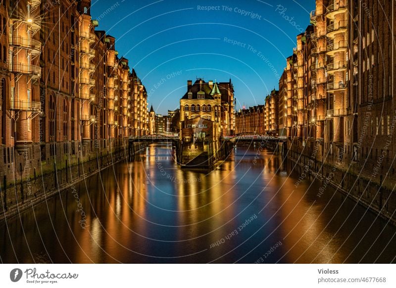
<instances>
[{"instance_id":1,"label":"dark quay wall along the water below the left-hand warehouses","mask_svg":"<svg viewBox=\"0 0 396 288\"><path fill-rule=\"evenodd\" d=\"M140 153L147 147L147 143L130 145L127 141L112 141L107 146L101 146L102 149L88 153L83 147L79 155L67 155L60 164L54 157L51 161L38 161L40 169L36 167L27 167L26 171L21 169L20 177L17 177L16 173L5 174L1 185L0 221L70 189L86 178ZM31 170L34 171L33 175L29 173Z\"/></svg>"}]
</instances>

